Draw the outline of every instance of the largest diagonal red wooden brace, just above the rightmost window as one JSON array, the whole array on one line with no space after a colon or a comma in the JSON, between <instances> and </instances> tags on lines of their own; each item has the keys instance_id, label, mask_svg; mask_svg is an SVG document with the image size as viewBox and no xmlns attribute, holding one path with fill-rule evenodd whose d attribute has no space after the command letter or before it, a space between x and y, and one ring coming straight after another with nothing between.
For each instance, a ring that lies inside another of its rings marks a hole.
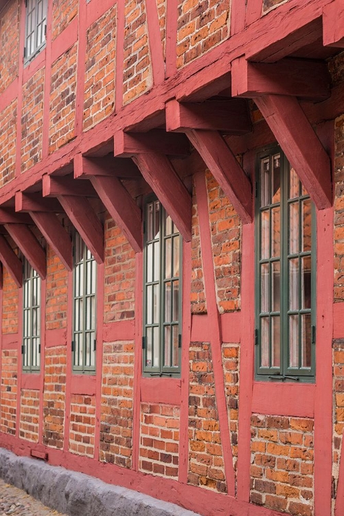
<instances>
[{"instance_id":1,"label":"largest diagonal red wooden brace, just above the rightmost window","mask_svg":"<svg viewBox=\"0 0 344 516\"><path fill-rule=\"evenodd\" d=\"M266 95L255 99L277 142L319 210L332 206L330 158L296 98Z\"/></svg>"}]
</instances>

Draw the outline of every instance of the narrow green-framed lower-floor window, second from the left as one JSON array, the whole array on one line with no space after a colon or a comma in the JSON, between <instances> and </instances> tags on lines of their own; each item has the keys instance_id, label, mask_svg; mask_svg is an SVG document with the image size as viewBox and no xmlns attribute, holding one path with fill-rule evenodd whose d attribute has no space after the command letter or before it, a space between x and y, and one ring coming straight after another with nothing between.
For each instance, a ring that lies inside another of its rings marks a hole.
<instances>
[{"instance_id":1,"label":"narrow green-framed lower-floor window, second from the left","mask_svg":"<svg viewBox=\"0 0 344 516\"><path fill-rule=\"evenodd\" d=\"M95 372L97 268L78 233L73 239L73 372Z\"/></svg>"}]
</instances>

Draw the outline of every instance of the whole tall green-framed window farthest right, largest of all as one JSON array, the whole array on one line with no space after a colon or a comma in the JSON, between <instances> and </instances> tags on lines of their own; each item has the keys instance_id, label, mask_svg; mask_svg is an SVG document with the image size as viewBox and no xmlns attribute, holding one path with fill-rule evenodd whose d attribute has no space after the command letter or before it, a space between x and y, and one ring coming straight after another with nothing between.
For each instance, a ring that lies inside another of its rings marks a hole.
<instances>
[{"instance_id":1,"label":"whole tall green-framed window farthest right, largest of all","mask_svg":"<svg viewBox=\"0 0 344 516\"><path fill-rule=\"evenodd\" d=\"M314 381L314 206L279 147L257 159L256 375Z\"/></svg>"}]
</instances>

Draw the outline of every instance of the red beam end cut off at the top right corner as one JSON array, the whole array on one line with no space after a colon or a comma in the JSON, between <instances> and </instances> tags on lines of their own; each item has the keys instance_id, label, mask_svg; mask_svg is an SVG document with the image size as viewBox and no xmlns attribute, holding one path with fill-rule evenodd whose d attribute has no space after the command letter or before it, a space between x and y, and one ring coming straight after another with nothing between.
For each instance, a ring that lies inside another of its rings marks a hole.
<instances>
[{"instance_id":1,"label":"red beam end cut off at the top right corner","mask_svg":"<svg viewBox=\"0 0 344 516\"><path fill-rule=\"evenodd\" d=\"M334 0L323 8L323 44L344 48L343 0Z\"/></svg>"}]
</instances>

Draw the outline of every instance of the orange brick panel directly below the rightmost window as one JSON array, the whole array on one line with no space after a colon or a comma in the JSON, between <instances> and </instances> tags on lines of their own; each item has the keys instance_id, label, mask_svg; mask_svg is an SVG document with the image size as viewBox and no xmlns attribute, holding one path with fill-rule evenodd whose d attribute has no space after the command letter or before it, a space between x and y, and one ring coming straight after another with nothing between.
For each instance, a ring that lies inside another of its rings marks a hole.
<instances>
[{"instance_id":1,"label":"orange brick panel directly below the rightmost window","mask_svg":"<svg viewBox=\"0 0 344 516\"><path fill-rule=\"evenodd\" d=\"M313 515L313 420L251 417L251 502Z\"/></svg>"}]
</instances>

